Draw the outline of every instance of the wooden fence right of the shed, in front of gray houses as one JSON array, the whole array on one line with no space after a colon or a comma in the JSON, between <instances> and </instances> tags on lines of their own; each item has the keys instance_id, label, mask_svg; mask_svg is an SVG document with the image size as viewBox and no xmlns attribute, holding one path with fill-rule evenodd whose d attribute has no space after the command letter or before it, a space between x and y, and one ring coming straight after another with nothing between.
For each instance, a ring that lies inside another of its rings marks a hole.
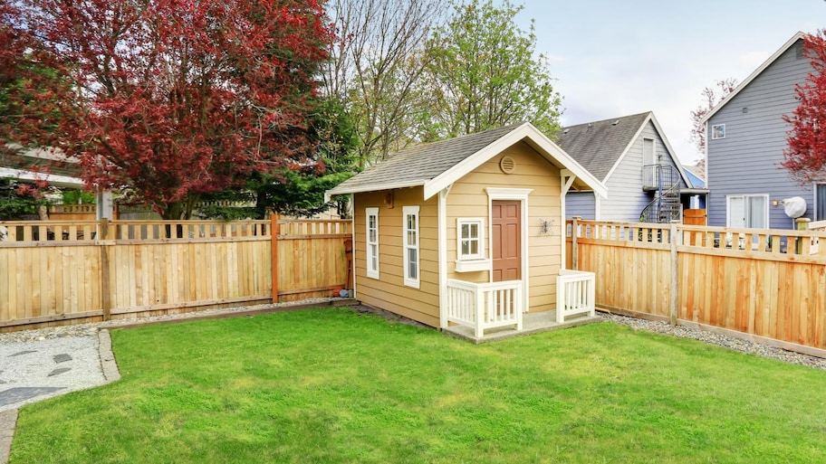
<instances>
[{"instance_id":1,"label":"wooden fence right of the shed, in front of gray houses","mask_svg":"<svg viewBox=\"0 0 826 464\"><path fill-rule=\"evenodd\" d=\"M597 305L826 357L824 232L568 222Z\"/></svg>"}]
</instances>

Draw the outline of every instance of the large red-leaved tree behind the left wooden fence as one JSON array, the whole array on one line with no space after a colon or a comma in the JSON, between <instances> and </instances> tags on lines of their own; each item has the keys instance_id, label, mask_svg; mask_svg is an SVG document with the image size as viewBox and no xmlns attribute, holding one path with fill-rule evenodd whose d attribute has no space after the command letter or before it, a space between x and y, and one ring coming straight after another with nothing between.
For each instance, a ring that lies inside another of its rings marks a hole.
<instances>
[{"instance_id":1,"label":"large red-leaved tree behind the left wooden fence","mask_svg":"<svg viewBox=\"0 0 826 464\"><path fill-rule=\"evenodd\" d=\"M87 184L178 219L197 194L312 154L306 123L331 40L319 1L19 3L72 81L51 98L75 109L24 138L80 158Z\"/></svg>"}]
</instances>

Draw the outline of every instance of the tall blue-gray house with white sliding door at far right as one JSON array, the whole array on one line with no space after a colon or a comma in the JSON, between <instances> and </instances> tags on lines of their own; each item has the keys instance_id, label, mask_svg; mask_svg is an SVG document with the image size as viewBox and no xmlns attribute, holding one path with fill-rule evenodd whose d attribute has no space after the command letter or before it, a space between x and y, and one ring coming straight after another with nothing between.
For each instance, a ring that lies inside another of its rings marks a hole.
<instances>
[{"instance_id":1,"label":"tall blue-gray house with white sliding door at far right","mask_svg":"<svg viewBox=\"0 0 826 464\"><path fill-rule=\"evenodd\" d=\"M812 71L803 35L794 34L704 118L708 225L791 229L783 200L794 196L807 204L803 217L826 219L826 185L798 185L780 165L790 128L783 115L797 108L794 88Z\"/></svg>"}]
</instances>

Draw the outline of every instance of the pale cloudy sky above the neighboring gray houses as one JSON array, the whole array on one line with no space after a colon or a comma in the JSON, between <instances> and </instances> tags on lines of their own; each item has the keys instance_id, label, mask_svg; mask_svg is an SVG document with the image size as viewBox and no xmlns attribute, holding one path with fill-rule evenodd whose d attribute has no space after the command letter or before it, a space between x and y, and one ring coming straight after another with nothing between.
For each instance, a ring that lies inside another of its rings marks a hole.
<instances>
[{"instance_id":1,"label":"pale cloudy sky above the neighboring gray houses","mask_svg":"<svg viewBox=\"0 0 826 464\"><path fill-rule=\"evenodd\" d=\"M512 0L518 5L518 0ZM823 0L524 0L551 59L562 125L654 111L680 160L689 113L716 80L743 81L794 33L826 28Z\"/></svg>"}]
</instances>

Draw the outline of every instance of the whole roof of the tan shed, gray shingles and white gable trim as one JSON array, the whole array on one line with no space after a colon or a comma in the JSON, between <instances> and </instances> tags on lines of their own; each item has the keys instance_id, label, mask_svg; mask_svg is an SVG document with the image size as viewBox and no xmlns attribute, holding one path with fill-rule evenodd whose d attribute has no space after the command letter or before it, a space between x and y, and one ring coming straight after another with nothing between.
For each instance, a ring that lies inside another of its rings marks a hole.
<instances>
[{"instance_id":1,"label":"whole roof of the tan shed, gray shingles and white gable trim","mask_svg":"<svg viewBox=\"0 0 826 464\"><path fill-rule=\"evenodd\" d=\"M599 180L530 123L405 148L389 159L354 175L327 194L355 194L424 186L427 200L505 148L521 141L528 143L555 166L571 171L579 179L579 185L608 196L607 189Z\"/></svg>"}]
</instances>

